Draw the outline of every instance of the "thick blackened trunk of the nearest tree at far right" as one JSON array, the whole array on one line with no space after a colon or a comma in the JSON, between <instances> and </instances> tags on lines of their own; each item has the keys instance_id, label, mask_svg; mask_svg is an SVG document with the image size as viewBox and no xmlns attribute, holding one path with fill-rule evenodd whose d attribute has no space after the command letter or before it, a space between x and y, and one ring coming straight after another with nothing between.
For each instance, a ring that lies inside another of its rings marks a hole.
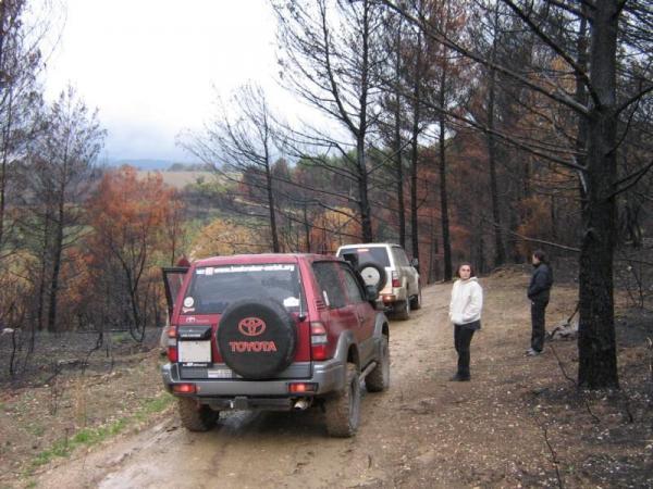
<instances>
[{"instance_id":1,"label":"thick blackened trunk of the nearest tree at far right","mask_svg":"<svg viewBox=\"0 0 653 489\"><path fill-rule=\"evenodd\" d=\"M619 5L597 2L593 12L590 77L599 103L588 116L587 196L580 253L578 384L618 387L614 324L613 253L616 202L616 50Z\"/></svg>"}]
</instances>

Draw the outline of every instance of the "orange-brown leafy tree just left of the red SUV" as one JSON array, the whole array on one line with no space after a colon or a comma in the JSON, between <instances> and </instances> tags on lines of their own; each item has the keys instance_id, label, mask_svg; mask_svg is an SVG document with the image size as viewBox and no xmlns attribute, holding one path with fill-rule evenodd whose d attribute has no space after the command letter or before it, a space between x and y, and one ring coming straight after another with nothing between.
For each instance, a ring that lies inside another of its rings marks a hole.
<instances>
[{"instance_id":1,"label":"orange-brown leafy tree just left of the red SUV","mask_svg":"<svg viewBox=\"0 0 653 489\"><path fill-rule=\"evenodd\" d=\"M88 202L94 290L87 293L106 304L107 314L118 315L119 324L124 323L121 311L128 311L135 338L134 331L160 319L158 265L167 262L178 210L174 189L160 174L139 177L131 166L107 173Z\"/></svg>"}]
</instances>

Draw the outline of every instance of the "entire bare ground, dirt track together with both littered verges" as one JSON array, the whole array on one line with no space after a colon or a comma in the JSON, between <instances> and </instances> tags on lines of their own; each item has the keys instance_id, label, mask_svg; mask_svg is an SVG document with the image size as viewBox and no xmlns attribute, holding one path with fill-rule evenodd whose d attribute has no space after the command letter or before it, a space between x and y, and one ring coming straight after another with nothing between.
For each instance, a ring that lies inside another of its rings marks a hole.
<instances>
[{"instance_id":1,"label":"entire bare ground, dirt track together with both littered verges","mask_svg":"<svg viewBox=\"0 0 653 489\"><path fill-rule=\"evenodd\" d=\"M391 324L392 386L365 394L353 439L328 438L319 410L229 413L207 434L186 432L161 394L157 352L134 353L59 388L2 390L0 487L653 487L651 316L621 304L621 389L582 392L575 341L523 355L528 275L504 269L481 284L472 380L447 381L451 284L428 287L424 308ZM555 287L550 328L576 296ZM84 425L90 442L76 438ZM44 455L62 438L65 456Z\"/></svg>"}]
</instances>

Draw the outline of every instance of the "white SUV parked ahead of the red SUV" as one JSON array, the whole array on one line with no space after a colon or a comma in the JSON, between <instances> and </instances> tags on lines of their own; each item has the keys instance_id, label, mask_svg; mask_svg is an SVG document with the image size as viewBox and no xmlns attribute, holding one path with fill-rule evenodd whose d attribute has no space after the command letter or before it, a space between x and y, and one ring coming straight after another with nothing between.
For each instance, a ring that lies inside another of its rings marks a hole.
<instances>
[{"instance_id":1,"label":"white SUV parked ahead of the red SUV","mask_svg":"<svg viewBox=\"0 0 653 489\"><path fill-rule=\"evenodd\" d=\"M358 243L337 249L337 256L353 263L367 285L379 289L379 301L399 319L408 319L410 311L421 308L421 288L417 261L408 261L398 244Z\"/></svg>"}]
</instances>

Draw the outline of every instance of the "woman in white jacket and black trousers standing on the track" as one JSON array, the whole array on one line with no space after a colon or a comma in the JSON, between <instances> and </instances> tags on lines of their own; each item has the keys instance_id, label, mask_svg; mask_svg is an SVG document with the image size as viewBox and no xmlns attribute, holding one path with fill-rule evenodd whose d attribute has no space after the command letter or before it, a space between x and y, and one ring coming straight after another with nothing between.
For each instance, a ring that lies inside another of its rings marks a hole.
<instances>
[{"instance_id":1,"label":"woman in white jacket and black trousers standing on the track","mask_svg":"<svg viewBox=\"0 0 653 489\"><path fill-rule=\"evenodd\" d=\"M449 380L465 381L470 379L469 346L471 344L471 337L475 331L481 328L483 289L469 263L460 264L456 275L459 278L452 288L449 321L454 325L454 343L458 353L458 371Z\"/></svg>"}]
</instances>

